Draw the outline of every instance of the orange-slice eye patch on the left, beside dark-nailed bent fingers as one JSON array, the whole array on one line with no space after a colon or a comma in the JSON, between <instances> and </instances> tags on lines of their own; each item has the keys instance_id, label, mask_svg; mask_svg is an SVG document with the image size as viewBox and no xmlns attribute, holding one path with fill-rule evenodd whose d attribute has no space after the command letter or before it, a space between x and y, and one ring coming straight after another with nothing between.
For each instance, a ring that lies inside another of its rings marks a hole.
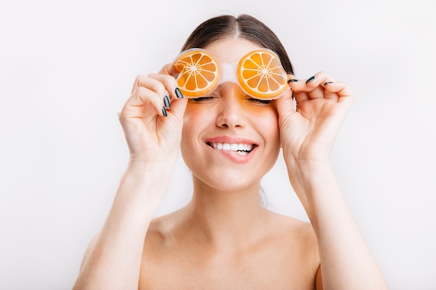
<instances>
[{"instance_id":1,"label":"orange-slice eye patch on the left, beside dark-nailed bent fingers","mask_svg":"<svg viewBox=\"0 0 436 290\"><path fill-rule=\"evenodd\" d=\"M176 58L173 67L179 73L177 82L186 97L198 97L213 90L219 82L220 68L216 58L202 49L188 49Z\"/></svg>"}]
</instances>

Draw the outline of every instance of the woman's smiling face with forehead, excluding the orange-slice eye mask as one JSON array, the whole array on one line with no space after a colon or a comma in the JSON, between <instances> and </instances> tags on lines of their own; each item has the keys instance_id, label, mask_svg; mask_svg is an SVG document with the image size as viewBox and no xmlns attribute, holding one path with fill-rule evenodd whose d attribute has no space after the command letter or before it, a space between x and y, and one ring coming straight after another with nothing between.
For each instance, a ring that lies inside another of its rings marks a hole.
<instances>
[{"instance_id":1,"label":"woman's smiling face with forehead, excluding the orange-slice eye mask","mask_svg":"<svg viewBox=\"0 0 436 290\"><path fill-rule=\"evenodd\" d=\"M254 42L228 38L205 47L219 63L235 63ZM189 99L181 151L194 178L223 191L256 185L274 166L280 150L274 101L246 95L233 82L207 97Z\"/></svg>"}]
</instances>

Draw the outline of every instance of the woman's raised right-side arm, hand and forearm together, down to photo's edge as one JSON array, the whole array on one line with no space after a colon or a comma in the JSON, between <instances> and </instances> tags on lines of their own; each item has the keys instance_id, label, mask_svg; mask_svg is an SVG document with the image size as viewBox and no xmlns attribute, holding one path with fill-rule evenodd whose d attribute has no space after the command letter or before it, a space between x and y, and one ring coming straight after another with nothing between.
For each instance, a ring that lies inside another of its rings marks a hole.
<instances>
[{"instance_id":1,"label":"woman's raised right-side arm, hand and forearm together, down to photo's edge","mask_svg":"<svg viewBox=\"0 0 436 290\"><path fill-rule=\"evenodd\" d=\"M319 72L290 83L277 101L288 176L318 239L323 289L387 289L377 264L348 210L329 154L353 102L344 83Z\"/></svg>"}]
</instances>

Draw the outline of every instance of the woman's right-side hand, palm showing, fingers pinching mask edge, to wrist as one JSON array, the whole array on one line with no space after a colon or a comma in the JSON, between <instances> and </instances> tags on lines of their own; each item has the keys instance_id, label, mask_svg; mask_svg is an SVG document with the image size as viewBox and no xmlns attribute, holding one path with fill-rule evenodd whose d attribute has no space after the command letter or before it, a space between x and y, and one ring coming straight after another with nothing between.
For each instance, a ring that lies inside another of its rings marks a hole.
<instances>
[{"instance_id":1,"label":"woman's right-side hand, palm showing, fingers pinching mask edge, to wrist","mask_svg":"<svg viewBox=\"0 0 436 290\"><path fill-rule=\"evenodd\" d=\"M345 83L325 72L309 79L290 75L292 92L277 99L283 156L286 161L328 161L354 96Z\"/></svg>"}]
</instances>

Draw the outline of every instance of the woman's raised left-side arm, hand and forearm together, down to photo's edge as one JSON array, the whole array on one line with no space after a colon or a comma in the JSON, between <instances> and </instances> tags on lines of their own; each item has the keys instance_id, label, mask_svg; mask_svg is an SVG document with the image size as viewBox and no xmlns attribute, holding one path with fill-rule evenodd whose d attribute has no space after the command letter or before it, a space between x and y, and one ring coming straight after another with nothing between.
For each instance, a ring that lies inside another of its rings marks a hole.
<instances>
[{"instance_id":1,"label":"woman's raised left-side arm, hand and forearm together, down to photo's edge","mask_svg":"<svg viewBox=\"0 0 436 290\"><path fill-rule=\"evenodd\" d=\"M161 74L138 76L120 110L130 162L102 231L86 250L74 290L138 289L144 239L169 186L186 106L177 99L168 67ZM177 102L163 109L166 91Z\"/></svg>"}]
</instances>

